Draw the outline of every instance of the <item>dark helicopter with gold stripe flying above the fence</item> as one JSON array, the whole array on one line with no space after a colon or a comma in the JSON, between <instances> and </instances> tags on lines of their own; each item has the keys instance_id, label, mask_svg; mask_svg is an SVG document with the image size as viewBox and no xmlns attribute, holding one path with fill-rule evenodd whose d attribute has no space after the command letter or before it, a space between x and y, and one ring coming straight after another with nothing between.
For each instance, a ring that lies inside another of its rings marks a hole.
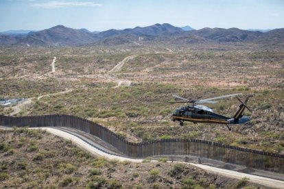
<instances>
[{"instance_id":1,"label":"dark helicopter with gold stripe flying above the fence","mask_svg":"<svg viewBox=\"0 0 284 189\"><path fill-rule=\"evenodd\" d=\"M238 95L242 95L241 93L233 94L233 95L224 95L221 97L214 97L210 99L201 99L201 100L189 100L182 97L179 97L177 95L173 95L173 97L176 99L180 99L182 101L174 101L171 103L191 103L191 105L187 105L185 107L178 108L174 111L172 114L172 121L179 121L180 126L183 126L184 121L190 121L193 123L220 123L220 124L226 124L229 130L230 127L229 124L243 124L248 121L250 121L250 117L243 116L243 112L245 109L248 109L250 112L252 112L246 103L248 102L248 99L252 97L252 95L248 95L246 97L246 100L243 102ZM207 107L206 105L200 105L201 103L217 103L217 101L214 101L216 99L223 99L227 97L236 97L241 104L239 105L239 109L233 116L233 118L229 118L227 116L223 116L221 114L216 114L213 112L212 108Z\"/></svg>"}]
</instances>

